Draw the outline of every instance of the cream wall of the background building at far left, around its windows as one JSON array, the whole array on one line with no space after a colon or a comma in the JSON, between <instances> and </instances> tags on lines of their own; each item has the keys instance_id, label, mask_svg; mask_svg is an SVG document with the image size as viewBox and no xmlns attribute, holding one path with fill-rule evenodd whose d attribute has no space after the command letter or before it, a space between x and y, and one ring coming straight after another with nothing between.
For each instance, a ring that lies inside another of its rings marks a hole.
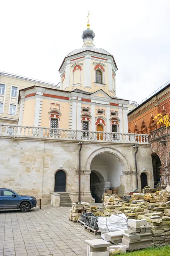
<instances>
[{"instance_id":1,"label":"cream wall of the background building at far left, around its windows","mask_svg":"<svg viewBox=\"0 0 170 256\"><path fill-rule=\"evenodd\" d=\"M7 76L3 76L3 75L0 76L0 84L6 85L4 112L3 112L3 114L0 114L0 122L8 122L8 123L13 122L13 123L17 124L18 117L19 117L19 105L17 104L19 90L27 88L27 87L31 87L34 85L43 87L43 84L34 82L34 81L27 81L24 79L11 78L11 77L7 77ZM15 105L15 104L17 105L16 115L8 114L9 105L10 105L10 96L11 96L11 86L18 87L17 97L13 97L13 99L15 99L15 102L12 102L12 100L11 100L12 105ZM44 84L44 86L51 87L48 84ZM0 102L2 102L2 101L0 101ZM5 120L5 118L6 118L6 120ZM14 119L14 120L10 120L10 119Z\"/></svg>"}]
</instances>

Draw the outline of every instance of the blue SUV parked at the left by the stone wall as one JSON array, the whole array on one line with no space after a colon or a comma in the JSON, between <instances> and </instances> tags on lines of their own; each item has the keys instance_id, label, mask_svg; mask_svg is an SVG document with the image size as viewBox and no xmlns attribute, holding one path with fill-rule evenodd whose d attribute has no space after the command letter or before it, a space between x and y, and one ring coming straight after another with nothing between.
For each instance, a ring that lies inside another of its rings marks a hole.
<instances>
[{"instance_id":1,"label":"blue SUV parked at the left by the stone wall","mask_svg":"<svg viewBox=\"0 0 170 256\"><path fill-rule=\"evenodd\" d=\"M0 209L20 209L28 212L37 206L37 200L33 196L18 195L11 189L0 189Z\"/></svg>"}]
</instances>

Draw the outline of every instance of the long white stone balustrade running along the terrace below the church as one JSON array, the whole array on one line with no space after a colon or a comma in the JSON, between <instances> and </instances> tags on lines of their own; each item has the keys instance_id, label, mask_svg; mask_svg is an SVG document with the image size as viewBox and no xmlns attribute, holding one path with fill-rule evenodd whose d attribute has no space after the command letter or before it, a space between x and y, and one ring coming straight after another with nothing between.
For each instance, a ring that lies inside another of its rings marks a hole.
<instances>
[{"instance_id":1,"label":"long white stone balustrade running along the terrace below the church","mask_svg":"<svg viewBox=\"0 0 170 256\"><path fill-rule=\"evenodd\" d=\"M0 136L149 144L147 134L80 131L0 123Z\"/></svg>"}]
</instances>

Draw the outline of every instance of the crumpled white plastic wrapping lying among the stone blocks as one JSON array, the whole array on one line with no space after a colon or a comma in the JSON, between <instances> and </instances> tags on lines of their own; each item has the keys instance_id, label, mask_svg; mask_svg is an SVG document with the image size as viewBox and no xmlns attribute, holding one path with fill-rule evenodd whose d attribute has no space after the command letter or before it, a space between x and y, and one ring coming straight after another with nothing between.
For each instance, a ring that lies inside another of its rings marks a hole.
<instances>
[{"instance_id":1,"label":"crumpled white plastic wrapping lying among the stone blocks","mask_svg":"<svg viewBox=\"0 0 170 256\"><path fill-rule=\"evenodd\" d=\"M127 217L124 213L111 215L110 217L99 217L97 221L101 234L106 232L125 230L128 227Z\"/></svg>"}]
</instances>

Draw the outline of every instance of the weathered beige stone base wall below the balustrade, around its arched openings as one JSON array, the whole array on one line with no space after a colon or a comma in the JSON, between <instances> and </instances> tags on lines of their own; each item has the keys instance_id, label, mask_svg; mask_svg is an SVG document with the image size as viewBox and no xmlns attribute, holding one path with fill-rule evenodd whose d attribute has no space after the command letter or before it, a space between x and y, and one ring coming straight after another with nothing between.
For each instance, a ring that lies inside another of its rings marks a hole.
<instances>
[{"instance_id":1,"label":"weathered beige stone base wall below the balustrade, around its arched openings","mask_svg":"<svg viewBox=\"0 0 170 256\"><path fill-rule=\"evenodd\" d=\"M78 141L0 137L0 187L14 189L37 198L50 198L54 177L60 166L66 172L66 191L78 193ZM82 200L90 201L90 165L97 154L108 152L121 162L120 189L127 193L136 188L133 144L83 142L81 152ZM102 155L101 155L102 156ZM150 145L139 145L137 153L138 180L143 168L148 185L153 187Z\"/></svg>"}]
</instances>

